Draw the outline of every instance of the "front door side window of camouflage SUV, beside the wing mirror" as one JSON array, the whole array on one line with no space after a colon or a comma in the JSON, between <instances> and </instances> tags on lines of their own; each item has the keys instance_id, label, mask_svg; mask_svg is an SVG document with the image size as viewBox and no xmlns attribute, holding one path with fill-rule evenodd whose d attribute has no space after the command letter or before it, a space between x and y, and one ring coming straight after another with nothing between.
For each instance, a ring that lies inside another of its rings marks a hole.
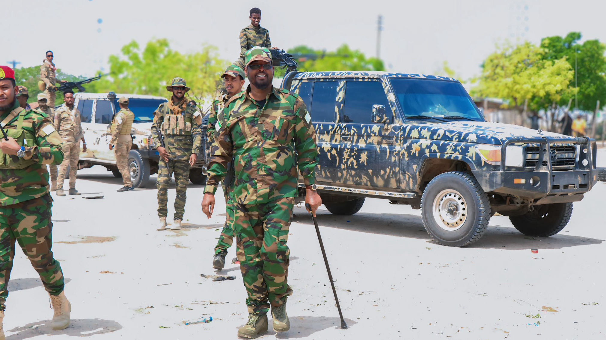
<instances>
[{"instance_id":1,"label":"front door side window of camouflage SUV, beside the wing mirror","mask_svg":"<svg viewBox=\"0 0 606 340\"><path fill-rule=\"evenodd\" d=\"M345 108L341 123L373 124L373 105L384 105L385 111L391 108L381 82L347 82L345 84Z\"/></svg>"}]
</instances>

